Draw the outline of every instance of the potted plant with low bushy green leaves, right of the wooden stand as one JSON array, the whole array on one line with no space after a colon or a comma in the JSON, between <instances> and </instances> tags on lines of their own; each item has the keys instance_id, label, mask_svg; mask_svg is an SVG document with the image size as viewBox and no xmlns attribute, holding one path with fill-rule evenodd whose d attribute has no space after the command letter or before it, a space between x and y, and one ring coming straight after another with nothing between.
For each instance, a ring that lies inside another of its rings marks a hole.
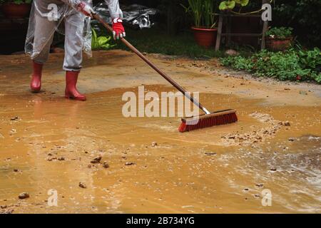
<instances>
[{"instance_id":1,"label":"potted plant with low bushy green leaves, right of the wooden stand","mask_svg":"<svg viewBox=\"0 0 321 228\"><path fill-rule=\"evenodd\" d=\"M274 27L265 33L266 47L272 51L284 51L291 46L292 28Z\"/></svg>"}]
</instances>

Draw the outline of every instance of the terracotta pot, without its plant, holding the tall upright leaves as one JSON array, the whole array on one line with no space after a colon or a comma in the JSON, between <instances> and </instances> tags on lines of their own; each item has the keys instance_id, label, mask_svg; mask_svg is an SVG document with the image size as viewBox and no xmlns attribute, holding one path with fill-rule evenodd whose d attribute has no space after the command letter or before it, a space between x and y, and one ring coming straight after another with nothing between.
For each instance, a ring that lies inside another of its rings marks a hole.
<instances>
[{"instance_id":1,"label":"terracotta pot, without its plant, holding the tall upright leaves","mask_svg":"<svg viewBox=\"0 0 321 228\"><path fill-rule=\"evenodd\" d=\"M214 46L216 41L216 35L218 33L217 28L196 28L192 27L194 32L194 38L196 43L199 46L203 46L209 48L210 46Z\"/></svg>"}]
</instances>

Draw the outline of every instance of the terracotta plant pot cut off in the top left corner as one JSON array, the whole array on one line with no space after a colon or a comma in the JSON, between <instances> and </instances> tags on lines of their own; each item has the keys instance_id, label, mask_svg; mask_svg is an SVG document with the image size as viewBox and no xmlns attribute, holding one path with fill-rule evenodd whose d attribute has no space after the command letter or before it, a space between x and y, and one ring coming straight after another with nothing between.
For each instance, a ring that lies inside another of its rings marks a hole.
<instances>
[{"instance_id":1,"label":"terracotta plant pot cut off in the top left corner","mask_svg":"<svg viewBox=\"0 0 321 228\"><path fill-rule=\"evenodd\" d=\"M21 19L29 14L32 0L0 0L1 9L8 19Z\"/></svg>"}]
</instances>

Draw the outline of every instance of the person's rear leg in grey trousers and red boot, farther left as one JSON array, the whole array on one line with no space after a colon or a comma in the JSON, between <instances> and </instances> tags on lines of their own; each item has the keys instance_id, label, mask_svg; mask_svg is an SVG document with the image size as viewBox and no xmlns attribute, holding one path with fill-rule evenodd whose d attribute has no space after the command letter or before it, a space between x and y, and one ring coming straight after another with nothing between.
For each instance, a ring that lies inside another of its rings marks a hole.
<instances>
[{"instance_id":1,"label":"person's rear leg in grey trousers and red boot, farther left","mask_svg":"<svg viewBox=\"0 0 321 228\"><path fill-rule=\"evenodd\" d=\"M30 88L34 92L41 89L41 73L44 63L48 60L50 46L54 38L55 22L46 17L35 16L34 50L31 56L33 60L33 73Z\"/></svg>"}]
</instances>

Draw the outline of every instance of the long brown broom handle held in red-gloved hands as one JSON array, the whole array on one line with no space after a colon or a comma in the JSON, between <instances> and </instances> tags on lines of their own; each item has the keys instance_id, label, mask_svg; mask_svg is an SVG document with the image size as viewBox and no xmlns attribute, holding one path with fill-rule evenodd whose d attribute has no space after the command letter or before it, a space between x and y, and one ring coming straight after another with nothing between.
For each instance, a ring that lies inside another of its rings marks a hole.
<instances>
[{"instance_id":1,"label":"long brown broom handle held in red-gloved hands","mask_svg":"<svg viewBox=\"0 0 321 228\"><path fill-rule=\"evenodd\" d=\"M108 31L110 31L111 33L113 33L113 28L111 28L111 26L106 23L106 21L104 21L101 16L99 16L98 14L93 14L93 18L96 19L97 21L99 21L101 24L103 24L103 26L105 28L108 29ZM156 72L158 72L161 76L163 76L163 78L165 78L170 84L172 84L175 88L177 88L178 90L180 90L181 93L183 93L185 95L186 98L190 99L190 101L192 101L195 105L198 106L198 108L200 108L201 110L203 110L203 112L205 114L210 114L210 112L203 106L201 105L198 100L196 100L195 98L193 98L192 95L190 95L190 93L188 93L182 86L178 85L178 83L176 83L175 81L173 81L172 78L170 78L167 74L165 74L163 71L161 71L161 69L159 69L157 66L155 66L153 63L151 63L151 61L148 60L148 58L146 58L140 51L138 51L133 45L131 45L131 43L129 43L128 41L126 41L125 38L121 38L121 41L123 43L125 43L126 46L128 46L128 48L131 49L131 51L133 51L134 53L136 53L137 56L139 56L141 59L143 59L143 61L145 61L149 66L151 66L151 68L153 68Z\"/></svg>"}]
</instances>

